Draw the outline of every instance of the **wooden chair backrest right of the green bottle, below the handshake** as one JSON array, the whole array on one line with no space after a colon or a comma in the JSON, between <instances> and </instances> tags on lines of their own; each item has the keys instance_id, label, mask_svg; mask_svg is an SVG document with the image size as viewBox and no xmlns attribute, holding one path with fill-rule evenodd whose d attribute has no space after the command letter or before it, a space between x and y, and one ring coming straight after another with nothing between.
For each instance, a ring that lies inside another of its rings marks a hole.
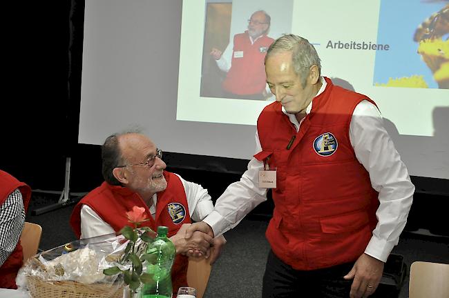
<instances>
[{"instance_id":1,"label":"wooden chair backrest right of the green bottle, below the handshake","mask_svg":"<svg viewBox=\"0 0 449 298\"><path fill-rule=\"evenodd\" d=\"M196 289L196 297L202 298L207 288L207 282L211 275L211 264L209 259L189 259L187 270L187 283Z\"/></svg>"}]
</instances>

